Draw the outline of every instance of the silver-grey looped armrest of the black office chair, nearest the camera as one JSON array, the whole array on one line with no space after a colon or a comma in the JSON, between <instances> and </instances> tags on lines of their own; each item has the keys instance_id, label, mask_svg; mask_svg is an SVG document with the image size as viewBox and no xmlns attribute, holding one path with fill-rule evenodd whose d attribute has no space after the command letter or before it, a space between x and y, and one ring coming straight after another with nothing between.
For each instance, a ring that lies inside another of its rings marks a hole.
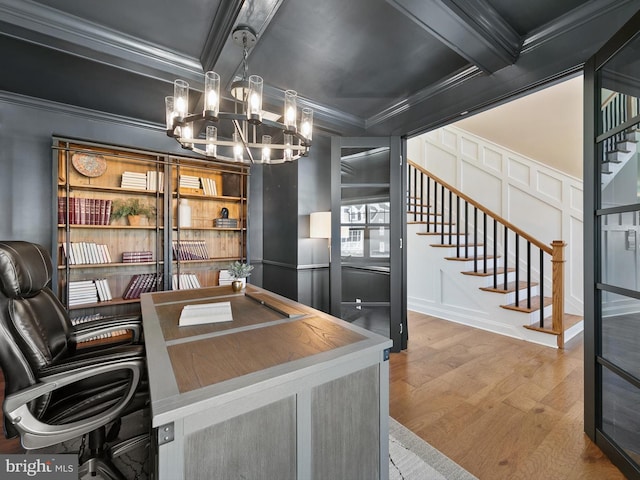
<instances>
[{"instance_id":1,"label":"silver-grey looped armrest of the black office chair, nearest the camera","mask_svg":"<svg viewBox=\"0 0 640 480\"><path fill-rule=\"evenodd\" d=\"M87 365L73 371L57 373L40 378L35 385L8 395L3 410L12 425L20 432L22 445L30 450L64 442L106 425L118 418L133 397L142 372L144 360L127 359L108 361L100 365ZM118 370L130 370L129 389L122 399L104 412L81 421L61 425L50 425L33 416L28 404L36 398L79 380Z\"/></svg>"}]
</instances>

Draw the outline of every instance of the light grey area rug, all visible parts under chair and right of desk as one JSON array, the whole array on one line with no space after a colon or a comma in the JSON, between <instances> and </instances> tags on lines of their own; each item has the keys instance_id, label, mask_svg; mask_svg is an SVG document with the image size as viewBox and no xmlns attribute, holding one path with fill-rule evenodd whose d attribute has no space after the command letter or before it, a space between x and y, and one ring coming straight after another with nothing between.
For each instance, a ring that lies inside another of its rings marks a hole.
<instances>
[{"instance_id":1,"label":"light grey area rug, all visible parts under chair and right of desk","mask_svg":"<svg viewBox=\"0 0 640 480\"><path fill-rule=\"evenodd\" d=\"M142 431L135 416L123 423L121 437L129 438ZM78 441L65 442L33 453L76 452ZM149 451L138 448L114 459L128 480L147 480ZM99 479L97 477L87 477ZM389 480L478 480L446 455L433 448L411 430L389 417Z\"/></svg>"}]
</instances>

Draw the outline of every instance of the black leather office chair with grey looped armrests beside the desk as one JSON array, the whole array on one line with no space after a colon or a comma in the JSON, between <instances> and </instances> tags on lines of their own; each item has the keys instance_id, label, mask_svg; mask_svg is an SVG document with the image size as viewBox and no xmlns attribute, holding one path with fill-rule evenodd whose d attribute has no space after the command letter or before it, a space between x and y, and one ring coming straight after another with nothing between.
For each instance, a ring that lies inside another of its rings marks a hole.
<instances>
[{"instance_id":1,"label":"black leather office chair with grey looped armrests beside the desk","mask_svg":"<svg viewBox=\"0 0 640 480\"><path fill-rule=\"evenodd\" d=\"M111 461L148 443L140 435L107 447L120 419L148 404L144 347L119 344L76 349L79 339L130 327L121 323L74 328L48 288L52 265L39 245L0 241L0 366L5 377L5 436L20 435L25 449L43 448L85 434L81 475L121 480ZM107 434L107 427L111 430ZM84 442L83 442L84 443Z\"/></svg>"}]
</instances>

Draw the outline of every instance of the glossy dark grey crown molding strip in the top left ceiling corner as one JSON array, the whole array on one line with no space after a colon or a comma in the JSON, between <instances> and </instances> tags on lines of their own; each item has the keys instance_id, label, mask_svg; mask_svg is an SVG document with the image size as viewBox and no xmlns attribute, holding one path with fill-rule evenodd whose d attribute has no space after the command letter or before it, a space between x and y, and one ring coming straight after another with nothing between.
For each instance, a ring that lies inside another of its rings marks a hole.
<instances>
[{"instance_id":1,"label":"glossy dark grey crown molding strip in the top left ceiling corner","mask_svg":"<svg viewBox=\"0 0 640 480\"><path fill-rule=\"evenodd\" d=\"M55 48L154 78L201 80L196 58L159 48L139 38L79 19L31 0L0 0L0 18L14 38ZM46 40L46 41L45 41Z\"/></svg>"}]
</instances>

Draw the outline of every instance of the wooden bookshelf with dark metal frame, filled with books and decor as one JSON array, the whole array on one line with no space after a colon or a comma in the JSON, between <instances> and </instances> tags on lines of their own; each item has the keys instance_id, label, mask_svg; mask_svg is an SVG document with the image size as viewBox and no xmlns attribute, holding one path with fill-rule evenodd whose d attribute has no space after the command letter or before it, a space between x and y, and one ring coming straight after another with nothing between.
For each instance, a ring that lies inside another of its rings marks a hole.
<instances>
[{"instance_id":1,"label":"wooden bookshelf with dark metal frame, filled with books and decor","mask_svg":"<svg viewBox=\"0 0 640 480\"><path fill-rule=\"evenodd\" d=\"M136 313L141 293L215 286L246 260L247 166L61 138L53 152L54 285L72 317ZM139 223L116 216L131 201Z\"/></svg>"}]
</instances>

